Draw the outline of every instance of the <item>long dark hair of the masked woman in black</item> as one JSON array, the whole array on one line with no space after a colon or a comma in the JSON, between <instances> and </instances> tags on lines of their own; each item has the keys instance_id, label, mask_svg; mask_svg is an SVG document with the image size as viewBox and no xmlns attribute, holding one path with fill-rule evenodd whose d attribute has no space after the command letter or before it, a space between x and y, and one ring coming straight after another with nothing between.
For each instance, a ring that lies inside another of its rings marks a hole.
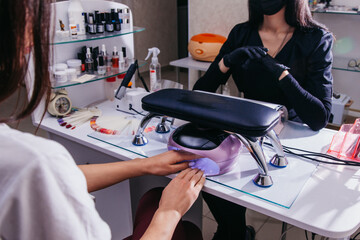
<instances>
[{"instance_id":1,"label":"long dark hair of the masked woman in black","mask_svg":"<svg viewBox=\"0 0 360 240\"><path fill-rule=\"evenodd\" d=\"M312 18L307 0L284 0L285 21L292 27L302 30L321 28L327 30L325 25L318 23ZM253 27L259 27L264 21L260 0L249 0L249 23Z\"/></svg>"}]
</instances>

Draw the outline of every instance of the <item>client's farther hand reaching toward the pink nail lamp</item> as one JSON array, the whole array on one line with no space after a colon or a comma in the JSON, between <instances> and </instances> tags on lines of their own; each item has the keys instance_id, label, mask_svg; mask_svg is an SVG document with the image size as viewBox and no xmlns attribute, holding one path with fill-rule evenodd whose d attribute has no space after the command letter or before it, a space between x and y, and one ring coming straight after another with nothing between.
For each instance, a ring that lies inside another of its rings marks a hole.
<instances>
[{"instance_id":1,"label":"client's farther hand reaching toward the pink nail lamp","mask_svg":"<svg viewBox=\"0 0 360 240\"><path fill-rule=\"evenodd\" d=\"M144 168L148 174L168 175L176 173L189 167L189 161L200 158L200 156L184 151L168 151L159 155L142 159Z\"/></svg>"}]
</instances>

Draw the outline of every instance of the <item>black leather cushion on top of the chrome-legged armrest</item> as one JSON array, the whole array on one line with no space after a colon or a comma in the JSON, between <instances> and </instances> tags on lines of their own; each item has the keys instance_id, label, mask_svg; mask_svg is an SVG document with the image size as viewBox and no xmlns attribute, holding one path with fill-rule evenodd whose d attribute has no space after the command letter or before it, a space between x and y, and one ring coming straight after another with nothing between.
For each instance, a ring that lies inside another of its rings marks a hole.
<instances>
[{"instance_id":1,"label":"black leather cushion on top of the chrome-legged armrest","mask_svg":"<svg viewBox=\"0 0 360 240\"><path fill-rule=\"evenodd\" d=\"M227 130L247 137L261 137L279 121L272 108L205 92L163 89L145 96L142 107L202 126Z\"/></svg>"}]
</instances>

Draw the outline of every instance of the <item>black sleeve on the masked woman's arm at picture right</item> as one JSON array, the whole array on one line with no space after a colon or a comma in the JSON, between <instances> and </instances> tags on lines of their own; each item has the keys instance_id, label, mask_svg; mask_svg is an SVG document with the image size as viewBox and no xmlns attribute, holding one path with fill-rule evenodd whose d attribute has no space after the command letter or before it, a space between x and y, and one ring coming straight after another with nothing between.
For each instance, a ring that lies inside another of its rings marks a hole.
<instances>
[{"instance_id":1,"label":"black sleeve on the masked woman's arm at picture right","mask_svg":"<svg viewBox=\"0 0 360 240\"><path fill-rule=\"evenodd\" d=\"M308 59L308 79L303 87L291 74L279 84L297 115L314 131L325 127L330 118L332 45L332 34L324 34Z\"/></svg>"}]
</instances>

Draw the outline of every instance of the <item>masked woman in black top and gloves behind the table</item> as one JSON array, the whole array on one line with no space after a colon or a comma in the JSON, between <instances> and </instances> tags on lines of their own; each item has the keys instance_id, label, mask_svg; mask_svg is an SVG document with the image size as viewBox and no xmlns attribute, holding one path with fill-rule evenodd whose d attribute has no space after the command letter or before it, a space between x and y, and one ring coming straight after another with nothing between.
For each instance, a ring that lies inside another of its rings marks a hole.
<instances>
[{"instance_id":1,"label":"masked woman in black top and gloves behind the table","mask_svg":"<svg viewBox=\"0 0 360 240\"><path fill-rule=\"evenodd\" d=\"M232 75L245 98L285 105L289 120L317 131L328 123L333 35L312 19L307 0L249 0L194 90L215 92ZM245 208L203 192L218 229L213 239L254 239Z\"/></svg>"}]
</instances>

